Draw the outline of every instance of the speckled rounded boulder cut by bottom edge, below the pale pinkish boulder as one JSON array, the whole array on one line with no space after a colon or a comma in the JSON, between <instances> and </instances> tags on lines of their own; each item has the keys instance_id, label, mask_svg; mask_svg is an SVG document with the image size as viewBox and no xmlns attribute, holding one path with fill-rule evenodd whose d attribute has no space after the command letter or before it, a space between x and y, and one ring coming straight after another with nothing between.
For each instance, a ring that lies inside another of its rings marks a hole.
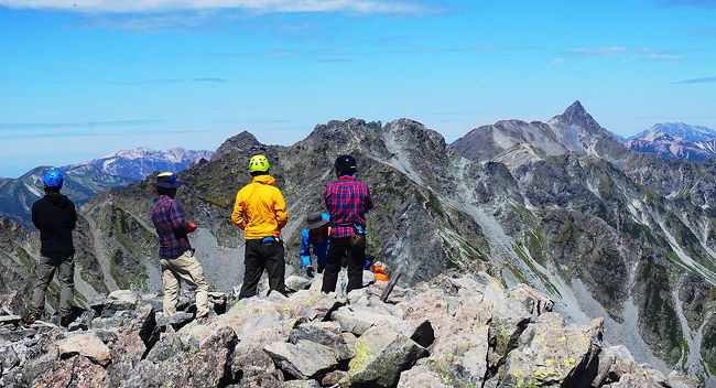
<instances>
[{"instance_id":1,"label":"speckled rounded boulder cut by bottom edge, below the pale pinkish boulder","mask_svg":"<svg viewBox=\"0 0 716 388\"><path fill-rule=\"evenodd\" d=\"M56 360L33 381L33 387L109 387L107 371L83 356Z\"/></svg>"}]
</instances>

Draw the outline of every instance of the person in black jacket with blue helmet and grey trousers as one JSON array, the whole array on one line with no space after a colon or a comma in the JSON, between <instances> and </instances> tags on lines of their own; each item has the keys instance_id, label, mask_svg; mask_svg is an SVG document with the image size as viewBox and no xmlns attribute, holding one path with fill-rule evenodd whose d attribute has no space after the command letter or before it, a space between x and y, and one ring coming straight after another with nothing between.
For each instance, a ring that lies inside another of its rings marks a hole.
<instances>
[{"instance_id":1,"label":"person in black jacket with blue helmet and grey trousers","mask_svg":"<svg viewBox=\"0 0 716 388\"><path fill-rule=\"evenodd\" d=\"M72 230L77 225L75 204L59 194L63 175L59 170L47 170L43 177L45 196L32 205L32 223L40 230L40 260L35 270L35 287L23 317L30 326L45 306L45 291L57 271L59 282L59 324L69 325L69 312L75 292L75 246Z\"/></svg>"}]
</instances>

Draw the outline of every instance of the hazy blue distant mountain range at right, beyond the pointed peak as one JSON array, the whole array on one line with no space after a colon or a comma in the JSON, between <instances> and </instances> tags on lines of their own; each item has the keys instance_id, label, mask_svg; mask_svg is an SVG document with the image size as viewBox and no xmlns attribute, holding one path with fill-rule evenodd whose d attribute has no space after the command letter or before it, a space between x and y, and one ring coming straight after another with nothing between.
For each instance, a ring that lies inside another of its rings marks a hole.
<instances>
[{"instance_id":1,"label":"hazy blue distant mountain range at right, beyond the pointed peak","mask_svg":"<svg viewBox=\"0 0 716 388\"><path fill-rule=\"evenodd\" d=\"M634 151L662 158L685 158L697 162L716 158L716 130L703 126L668 122L654 125L626 139L611 134Z\"/></svg>"}]
</instances>

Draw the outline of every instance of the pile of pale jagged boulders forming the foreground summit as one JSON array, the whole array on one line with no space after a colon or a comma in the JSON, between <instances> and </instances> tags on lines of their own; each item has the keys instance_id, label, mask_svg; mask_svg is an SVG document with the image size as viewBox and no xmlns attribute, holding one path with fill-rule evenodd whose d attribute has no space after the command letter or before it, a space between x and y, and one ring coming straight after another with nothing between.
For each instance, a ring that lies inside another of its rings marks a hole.
<instances>
[{"instance_id":1,"label":"pile of pale jagged boulders forming the foreground summit","mask_svg":"<svg viewBox=\"0 0 716 388\"><path fill-rule=\"evenodd\" d=\"M165 317L161 298L111 292L68 330L19 326L0 299L6 387L697 387L605 347L603 320L565 325L553 301L486 272L448 271L381 301L387 282L321 293L322 278L286 280L289 297L214 293L198 324ZM228 309L228 310L227 310ZM188 311L187 311L188 310Z\"/></svg>"}]
</instances>

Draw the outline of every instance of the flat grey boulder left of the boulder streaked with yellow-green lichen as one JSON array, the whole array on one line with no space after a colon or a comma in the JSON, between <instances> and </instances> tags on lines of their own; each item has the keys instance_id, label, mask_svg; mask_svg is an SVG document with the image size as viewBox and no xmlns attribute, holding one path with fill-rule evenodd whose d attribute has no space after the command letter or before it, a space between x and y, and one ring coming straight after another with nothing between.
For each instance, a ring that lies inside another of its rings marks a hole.
<instances>
[{"instance_id":1,"label":"flat grey boulder left of the boulder streaked with yellow-green lichen","mask_svg":"<svg viewBox=\"0 0 716 388\"><path fill-rule=\"evenodd\" d=\"M323 377L338 365L330 347L305 340L274 342L263 348L284 373L300 379Z\"/></svg>"}]
</instances>

